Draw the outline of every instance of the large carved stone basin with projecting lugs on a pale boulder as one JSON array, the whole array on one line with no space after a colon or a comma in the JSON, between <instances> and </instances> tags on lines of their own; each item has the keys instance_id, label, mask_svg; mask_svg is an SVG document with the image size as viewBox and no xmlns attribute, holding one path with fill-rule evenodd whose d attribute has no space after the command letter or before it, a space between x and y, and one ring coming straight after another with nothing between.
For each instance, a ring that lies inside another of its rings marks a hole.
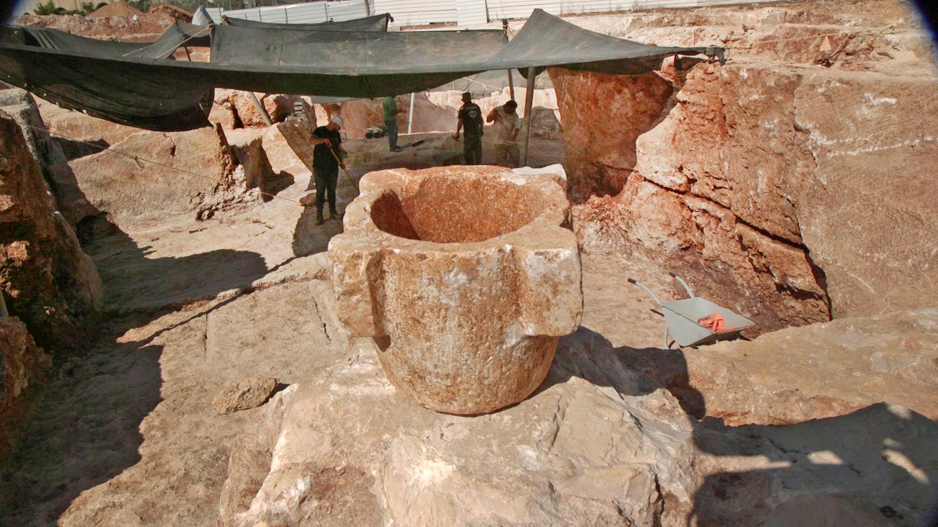
<instances>
[{"instance_id":1,"label":"large carved stone basin with projecting lugs on a pale boulder","mask_svg":"<svg viewBox=\"0 0 938 527\"><path fill-rule=\"evenodd\" d=\"M481 414L530 395L582 317L566 174L440 167L366 174L329 242L340 322L372 337L417 404Z\"/></svg>"}]
</instances>

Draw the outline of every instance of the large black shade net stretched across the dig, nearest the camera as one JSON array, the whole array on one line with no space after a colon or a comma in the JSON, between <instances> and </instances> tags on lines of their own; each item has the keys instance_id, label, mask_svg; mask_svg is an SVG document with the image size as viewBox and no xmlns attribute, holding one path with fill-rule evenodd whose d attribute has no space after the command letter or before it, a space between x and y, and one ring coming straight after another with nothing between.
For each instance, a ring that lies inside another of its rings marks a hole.
<instances>
[{"instance_id":1,"label":"large black shade net stretched across the dig, nearest the camera","mask_svg":"<svg viewBox=\"0 0 938 527\"><path fill-rule=\"evenodd\" d=\"M205 27L211 28L211 62L151 56L155 50L165 53L179 39L198 45L192 42L203 38L199 34ZM175 24L167 34L160 38L162 43L130 44L138 46L134 51L127 43L71 35L45 35L50 44L40 47L41 42L21 39L31 32L8 29L0 34L0 80L109 121L169 131L208 126L215 87L377 98L507 68L521 75L527 68L550 66L637 74L658 68L666 56L707 51L646 46L601 35L540 9L510 42L500 30L375 32Z\"/></svg>"}]
</instances>

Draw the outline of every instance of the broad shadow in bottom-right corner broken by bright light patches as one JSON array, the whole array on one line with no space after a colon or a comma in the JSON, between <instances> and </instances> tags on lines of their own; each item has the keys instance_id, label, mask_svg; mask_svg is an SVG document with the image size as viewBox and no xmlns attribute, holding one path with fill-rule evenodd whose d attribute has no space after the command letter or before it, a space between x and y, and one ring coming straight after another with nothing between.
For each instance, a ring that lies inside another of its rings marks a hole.
<instances>
[{"instance_id":1,"label":"broad shadow in bottom-right corner broken by bright light patches","mask_svg":"<svg viewBox=\"0 0 938 527\"><path fill-rule=\"evenodd\" d=\"M711 454L764 457L771 468L707 475L688 522L925 525L933 511L938 423L905 407L881 402L783 427L705 419L695 439Z\"/></svg>"}]
</instances>

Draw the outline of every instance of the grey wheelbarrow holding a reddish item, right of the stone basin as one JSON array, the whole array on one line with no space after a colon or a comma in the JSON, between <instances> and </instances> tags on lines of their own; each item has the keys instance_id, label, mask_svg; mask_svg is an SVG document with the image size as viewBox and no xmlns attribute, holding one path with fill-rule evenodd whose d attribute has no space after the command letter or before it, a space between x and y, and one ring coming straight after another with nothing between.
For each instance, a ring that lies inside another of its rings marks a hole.
<instances>
[{"instance_id":1,"label":"grey wheelbarrow holding a reddish item, right of the stone basin","mask_svg":"<svg viewBox=\"0 0 938 527\"><path fill-rule=\"evenodd\" d=\"M674 279L681 282L681 285L684 286L684 290L688 292L689 298L673 300L671 302L661 302L658 300L658 296L652 293L643 283L635 281L634 279L628 279L628 283L633 283L641 287L648 294L651 294L651 297L658 303L658 308L661 309L661 314L664 315L665 349L671 347L668 343L669 333L673 337L674 342L677 342L678 346L682 348L697 347L703 344L713 344L718 340L736 339L739 337L740 331L755 325L748 318L738 315L730 309L714 304L699 296L694 296L693 292L690 291L688 282L674 273L669 274ZM726 329L716 333L711 331L710 328L697 323L697 321L703 317L714 313L719 313L726 324Z\"/></svg>"}]
</instances>

